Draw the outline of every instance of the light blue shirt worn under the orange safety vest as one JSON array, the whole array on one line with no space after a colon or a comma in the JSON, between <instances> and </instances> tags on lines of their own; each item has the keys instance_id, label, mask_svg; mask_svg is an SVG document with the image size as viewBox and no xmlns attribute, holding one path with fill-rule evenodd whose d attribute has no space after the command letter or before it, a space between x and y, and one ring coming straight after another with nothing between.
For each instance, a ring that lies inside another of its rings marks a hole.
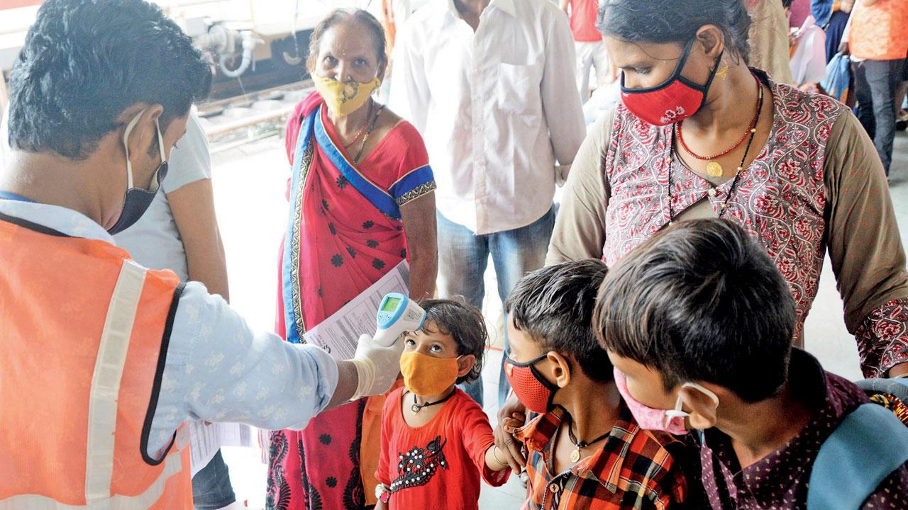
<instances>
[{"instance_id":1,"label":"light blue shirt worn under the orange safety vest","mask_svg":"<svg viewBox=\"0 0 908 510\"><path fill-rule=\"evenodd\" d=\"M101 225L63 207L0 200L0 212L114 244ZM189 282L173 320L148 454L159 457L188 420L301 429L328 405L337 383L330 354L251 329L220 296Z\"/></svg>"}]
</instances>

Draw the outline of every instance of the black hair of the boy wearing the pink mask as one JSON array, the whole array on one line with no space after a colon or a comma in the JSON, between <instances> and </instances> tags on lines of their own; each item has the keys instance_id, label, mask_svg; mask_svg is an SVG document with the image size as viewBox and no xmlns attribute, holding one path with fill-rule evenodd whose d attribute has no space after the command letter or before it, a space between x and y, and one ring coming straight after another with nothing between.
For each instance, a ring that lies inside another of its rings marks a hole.
<instances>
[{"instance_id":1,"label":"black hair of the boy wearing the pink mask","mask_svg":"<svg viewBox=\"0 0 908 510\"><path fill-rule=\"evenodd\" d=\"M611 268L596 304L599 343L662 375L746 402L788 379L795 301L765 249L725 220L681 221Z\"/></svg>"}]
</instances>

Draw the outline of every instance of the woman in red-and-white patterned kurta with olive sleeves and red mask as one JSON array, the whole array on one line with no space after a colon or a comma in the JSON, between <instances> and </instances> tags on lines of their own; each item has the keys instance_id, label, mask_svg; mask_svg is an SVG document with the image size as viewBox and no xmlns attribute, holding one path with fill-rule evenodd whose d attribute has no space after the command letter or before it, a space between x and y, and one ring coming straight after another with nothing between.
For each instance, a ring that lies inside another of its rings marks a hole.
<instances>
[{"instance_id":1,"label":"woman in red-and-white patterned kurta with olive sleeves and red mask","mask_svg":"<svg viewBox=\"0 0 908 510\"><path fill-rule=\"evenodd\" d=\"M633 2L608 0L618 9L608 7L603 15L621 15L628 4ZM610 23L617 18L600 25L625 86L664 82L691 38L696 42L681 75L700 84L710 74L716 78L704 105L682 123L646 123L624 103L599 120L575 158L548 263L602 257L611 265L669 221L720 216L759 240L788 281L798 314L795 344L803 344L804 319L828 250L864 374L908 372L904 252L880 159L860 123L829 97L749 69L749 18L734 12L735 2L708 2L724 6L716 12L701 5L694 13L683 11L689 2L657 4L661 15L683 26L628 28ZM711 176L707 161L690 151L708 156L731 147L742 133L747 138L759 97L755 76L765 102L752 147L747 151L741 143L713 157L725 172Z\"/></svg>"}]
</instances>

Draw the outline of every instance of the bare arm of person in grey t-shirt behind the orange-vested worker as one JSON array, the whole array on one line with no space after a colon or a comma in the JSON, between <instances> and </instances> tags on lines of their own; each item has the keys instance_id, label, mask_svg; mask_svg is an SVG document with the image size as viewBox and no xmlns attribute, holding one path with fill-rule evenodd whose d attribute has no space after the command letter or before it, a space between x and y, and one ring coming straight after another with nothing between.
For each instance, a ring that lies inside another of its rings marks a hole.
<instances>
[{"instance_id":1,"label":"bare arm of person in grey t-shirt behind the orange-vested worker","mask_svg":"<svg viewBox=\"0 0 908 510\"><path fill-rule=\"evenodd\" d=\"M201 282L212 294L230 300L227 260L214 215L212 180L202 179L181 186L167 193L167 201L183 239L189 280Z\"/></svg>"}]
</instances>

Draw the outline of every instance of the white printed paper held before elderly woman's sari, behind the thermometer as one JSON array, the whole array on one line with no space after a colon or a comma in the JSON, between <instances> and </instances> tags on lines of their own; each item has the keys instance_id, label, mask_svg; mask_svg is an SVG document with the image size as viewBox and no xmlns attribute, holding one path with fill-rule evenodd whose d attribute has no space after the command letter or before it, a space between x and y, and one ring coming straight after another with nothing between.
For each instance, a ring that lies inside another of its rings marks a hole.
<instances>
[{"instance_id":1,"label":"white printed paper held before elderly woman's sari, behind the thermometer","mask_svg":"<svg viewBox=\"0 0 908 510\"><path fill-rule=\"evenodd\" d=\"M390 292L410 293L410 264L403 260L369 289L334 312L331 317L306 331L302 341L321 347L336 359L350 359L356 353L360 335L374 335L379 329L375 316L381 299Z\"/></svg>"}]
</instances>

